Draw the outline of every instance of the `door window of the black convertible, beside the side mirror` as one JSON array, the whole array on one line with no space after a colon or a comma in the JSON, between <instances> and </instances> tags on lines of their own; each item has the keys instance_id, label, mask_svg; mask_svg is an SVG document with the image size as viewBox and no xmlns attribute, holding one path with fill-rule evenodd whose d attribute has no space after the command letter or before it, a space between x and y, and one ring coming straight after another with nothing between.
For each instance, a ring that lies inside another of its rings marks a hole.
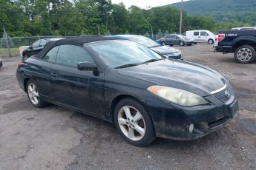
<instances>
[{"instance_id":1,"label":"door window of the black convertible, beside the side mirror","mask_svg":"<svg viewBox=\"0 0 256 170\"><path fill-rule=\"evenodd\" d=\"M59 47L56 64L77 67L79 62L94 62L91 55L82 47L65 44Z\"/></svg>"}]
</instances>

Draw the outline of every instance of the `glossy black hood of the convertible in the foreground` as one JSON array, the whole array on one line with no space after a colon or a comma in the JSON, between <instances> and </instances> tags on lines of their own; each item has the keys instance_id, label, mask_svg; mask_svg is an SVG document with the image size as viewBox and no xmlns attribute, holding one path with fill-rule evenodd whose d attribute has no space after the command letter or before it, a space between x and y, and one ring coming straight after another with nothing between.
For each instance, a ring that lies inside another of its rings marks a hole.
<instances>
[{"instance_id":1,"label":"glossy black hood of the convertible in the foreground","mask_svg":"<svg viewBox=\"0 0 256 170\"><path fill-rule=\"evenodd\" d=\"M117 70L152 85L171 86L201 96L211 95L226 84L220 72L188 61L163 60Z\"/></svg>"}]
</instances>

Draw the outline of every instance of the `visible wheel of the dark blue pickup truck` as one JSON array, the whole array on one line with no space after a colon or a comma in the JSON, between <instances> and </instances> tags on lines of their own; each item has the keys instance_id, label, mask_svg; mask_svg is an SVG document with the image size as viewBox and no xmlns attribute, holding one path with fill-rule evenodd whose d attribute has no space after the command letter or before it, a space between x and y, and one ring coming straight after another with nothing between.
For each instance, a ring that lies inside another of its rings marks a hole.
<instances>
[{"instance_id":1,"label":"visible wheel of the dark blue pickup truck","mask_svg":"<svg viewBox=\"0 0 256 170\"><path fill-rule=\"evenodd\" d=\"M240 46L234 52L234 59L238 63L250 63L255 60L255 49L249 45Z\"/></svg>"}]
</instances>

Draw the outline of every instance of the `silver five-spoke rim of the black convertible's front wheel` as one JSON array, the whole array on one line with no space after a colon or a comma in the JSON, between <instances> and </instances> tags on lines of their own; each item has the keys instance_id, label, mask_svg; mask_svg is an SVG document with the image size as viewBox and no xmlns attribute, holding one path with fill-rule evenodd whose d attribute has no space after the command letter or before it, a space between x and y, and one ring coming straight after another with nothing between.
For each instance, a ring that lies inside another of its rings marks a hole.
<instances>
[{"instance_id":1,"label":"silver five-spoke rim of the black convertible's front wheel","mask_svg":"<svg viewBox=\"0 0 256 170\"><path fill-rule=\"evenodd\" d=\"M118 124L122 133L130 140L141 140L145 135L145 120L133 106L122 106L119 109Z\"/></svg>"}]
</instances>

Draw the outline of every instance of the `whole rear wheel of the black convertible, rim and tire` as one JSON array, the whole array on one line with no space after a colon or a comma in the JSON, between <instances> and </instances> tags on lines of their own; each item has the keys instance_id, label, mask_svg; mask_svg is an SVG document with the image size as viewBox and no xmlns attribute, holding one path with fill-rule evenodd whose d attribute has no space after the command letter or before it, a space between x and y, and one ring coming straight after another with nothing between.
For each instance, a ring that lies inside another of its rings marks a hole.
<instances>
[{"instance_id":1,"label":"whole rear wheel of the black convertible, rim and tire","mask_svg":"<svg viewBox=\"0 0 256 170\"><path fill-rule=\"evenodd\" d=\"M29 80L27 82L27 97L30 103L36 108L40 108L47 105L45 101L42 101L39 89L36 86L35 82L32 80Z\"/></svg>"}]
</instances>

